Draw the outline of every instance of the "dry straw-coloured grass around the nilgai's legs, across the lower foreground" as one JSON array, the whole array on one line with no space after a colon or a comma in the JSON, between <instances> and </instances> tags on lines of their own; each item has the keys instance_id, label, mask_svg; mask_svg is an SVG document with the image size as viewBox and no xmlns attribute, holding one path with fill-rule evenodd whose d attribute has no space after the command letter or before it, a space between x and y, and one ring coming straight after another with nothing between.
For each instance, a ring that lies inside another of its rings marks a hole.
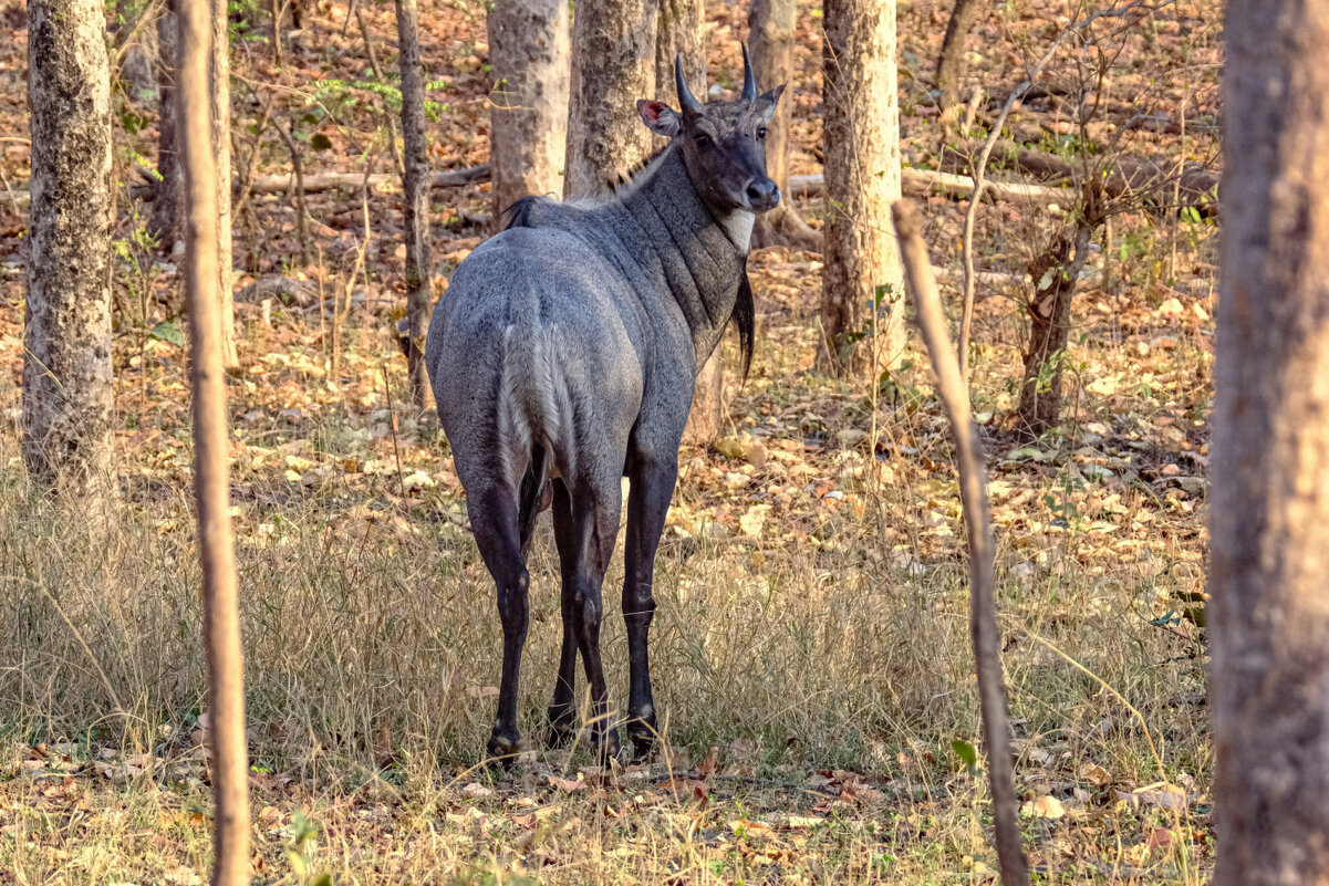
<instances>
[{"instance_id":1,"label":"dry straw-coloured grass around the nilgai's legs, across the lower foreground","mask_svg":"<svg viewBox=\"0 0 1329 886\"><path fill-rule=\"evenodd\" d=\"M940 418L922 402L880 408L873 422L851 388L792 365L811 352L807 317L771 306L767 324L773 341L735 402L738 424L775 452L779 416L837 416L840 429L874 424L897 454L869 462L868 442L832 436L799 460L845 498L787 505L793 484L775 460L744 468L735 487L738 461L684 453L651 638L674 753L649 770L603 776L583 752L542 751L512 773L476 768L500 628L444 486L403 498L391 472L302 485L237 469L263 882L306 882L291 853L338 882L986 878L986 792L950 748L978 744L978 717ZM358 340L365 365L392 347L372 331ZM1171 357L1203 364L1196 355ZM926 380L906 369L898 383ZM235 396L237 414L254 405ZM311 461L339 460L347 434L375 417L311 409L268 442L310 438ZM407 422L403 436L407 473L445 470L436 432ZM0 446L15 465L12 433ZM1118 489L1127 511L1154 522L1131 517L1118 534L1066 521L1074 502L1088 514L1108 490L1086 487L1074 448L1062 452L1059 466L1007 464L995 490L1019 788L1067 809L1027 814L1026 841L1049 882L1199 883L1211 851L1199 662L1192 636L1148 622L1200 580L1197 519L1136 478ZM12 873L0 882L189 882L207 863L209 798L190 739L205 683L187 486L166 472L129 489L108 531L4 474L0 808L11 824L0 870ZM773 502L767 525L735 531L755 502ZM542 529L521 692L537 747L560 640L552 547ZM606 587L619 580L615 563ZM617 618L605 652L622 700ZM696 785L666 773L704 774L695 766L711 747L718 772L703 804ZM1158 781L1195 796L1175 810L1147 805L1156 789L1144 805L1118 798ZM758 824L731 825L743 821Z\"/></svg>"}]
</instances>

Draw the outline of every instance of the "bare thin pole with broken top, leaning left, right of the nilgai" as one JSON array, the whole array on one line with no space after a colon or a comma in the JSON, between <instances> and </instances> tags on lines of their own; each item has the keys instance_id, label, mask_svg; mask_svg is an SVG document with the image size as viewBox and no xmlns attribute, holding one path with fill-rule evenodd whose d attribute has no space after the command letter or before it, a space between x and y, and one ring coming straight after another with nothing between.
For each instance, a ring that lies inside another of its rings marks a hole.
<instances>
[{"instance_id":1,"label":"bare thin pole with broken top, leaning left, right of the nilgai","mask_svg":"<svg viewBox=\"0 0 1329 886\"><path fill-rule=\"evenodd\" d=\"M1010 764L1010 721L1006 715L1006 689L1001 669L1001 630L997 627L994 543L987 507L982 446L969 412L969 388L960 372L960 363L950 349L946 317L932 279L928 244L922 223L913 203L900 201L892 206L896 236L905 266L905 278L913 292L918 327L928 344L937 392L956 442L956 468L960 472L960 497L969 531L969 632L974 643L974 668L978 673L978 703L982 712L987 751L987 777L993 794L993 820L997 857L1005 886L1029 883L1029 861L1019 845L1015 820L1015 785Z\"/></svg>"}]
</instances>

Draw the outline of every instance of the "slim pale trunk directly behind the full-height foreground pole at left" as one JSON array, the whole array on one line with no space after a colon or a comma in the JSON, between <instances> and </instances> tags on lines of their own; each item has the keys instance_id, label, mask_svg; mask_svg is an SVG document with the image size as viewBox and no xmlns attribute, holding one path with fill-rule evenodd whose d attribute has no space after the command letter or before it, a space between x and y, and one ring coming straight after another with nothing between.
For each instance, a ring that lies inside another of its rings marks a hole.
<instances>
[{"instance_id":1,"label":"slim pale trunk directly behind the full-height foreground pole at left","mask_svg":"<svg viewBox=\"0 0 1329 886\"><path fill-rule=\"evenodd\" d=\"M211 0L213 48L209 64L209 112L211 113L213 162L217 169L217 284L222 292L222 363L239 365L235 347L235 308L231 280L231 44L226 0Z\"/></svg>"}]
</instances>

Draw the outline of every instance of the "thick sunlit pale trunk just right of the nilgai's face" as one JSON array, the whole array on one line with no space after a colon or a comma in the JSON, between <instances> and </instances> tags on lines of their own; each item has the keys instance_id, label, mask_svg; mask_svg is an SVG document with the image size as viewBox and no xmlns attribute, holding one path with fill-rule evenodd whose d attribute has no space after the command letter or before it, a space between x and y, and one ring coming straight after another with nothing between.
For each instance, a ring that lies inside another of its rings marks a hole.
<instances>
[{"instance_id":1,"label":"thick sunlit pale trunk just right of the nilgai's face","mask_svg":"<svg viewBox=\"0 0 1329 886\"><path fill-rule=\"evenodd\" d=\"M905 341L904 271L890 221L890 203L900 199L896 0L825 0L825 32L831 217L820 361L829 372L870 365L876 375L900 360Z\"/></svg>"}]
</instances>

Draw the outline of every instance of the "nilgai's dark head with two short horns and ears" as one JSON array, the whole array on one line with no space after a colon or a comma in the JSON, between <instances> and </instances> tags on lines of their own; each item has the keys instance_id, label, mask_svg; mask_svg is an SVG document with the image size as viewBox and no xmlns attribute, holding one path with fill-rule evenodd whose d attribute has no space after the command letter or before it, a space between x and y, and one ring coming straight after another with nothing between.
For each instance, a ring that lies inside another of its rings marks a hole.
<instances>
[{"instance_id":1,"label":"nilgai's dark head with two short horns and ears","mask_svg":"<svg viewBox=\"0 0 1329 886\"><path fill-rule=\"evenodd\" d=\"M674 81L680 110L645 98L637 102L637 110L653 133L679 145L702 199L720 213L775 209L780 189L766 174L766 128L784 85L758 94L747 46L743 46L743 92L738 101L698 101L687 88L680 58L674 60Z\"/></svg>"}]
</instances>

